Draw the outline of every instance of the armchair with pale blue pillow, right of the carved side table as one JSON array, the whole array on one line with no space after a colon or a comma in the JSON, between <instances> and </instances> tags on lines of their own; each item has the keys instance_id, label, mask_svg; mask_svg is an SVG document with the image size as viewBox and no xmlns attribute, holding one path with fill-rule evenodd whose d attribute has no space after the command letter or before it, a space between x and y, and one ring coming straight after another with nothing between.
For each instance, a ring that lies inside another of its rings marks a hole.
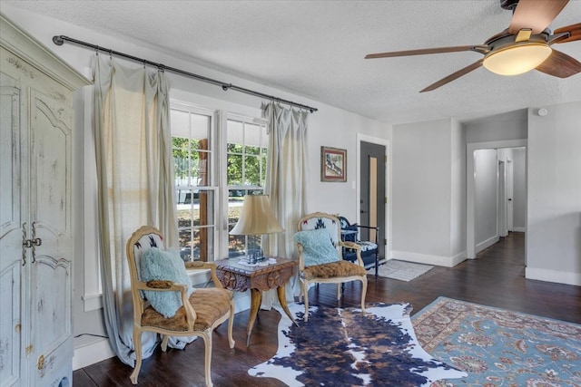
<instances>
[{"instance_id":1,"label":"armchair with pale blue pillow, right of the carved side table","mask_svg":"<svg viewBox=\"0 0 581 387\"><path fill-rule=\"evenodd\" d=\"M294 240L299 249L300 297L304 297L304 321L309 318L310 284L337 284L337 299L340 300L344 283L360 281L361 309L365 312L367 272L361 260L361 247L354 242L341 240L340 220L330 214L316 212L301 218L298 229ZM355 262L342 259L342 247L356 251Z\"/></svg>"}]
</instances>

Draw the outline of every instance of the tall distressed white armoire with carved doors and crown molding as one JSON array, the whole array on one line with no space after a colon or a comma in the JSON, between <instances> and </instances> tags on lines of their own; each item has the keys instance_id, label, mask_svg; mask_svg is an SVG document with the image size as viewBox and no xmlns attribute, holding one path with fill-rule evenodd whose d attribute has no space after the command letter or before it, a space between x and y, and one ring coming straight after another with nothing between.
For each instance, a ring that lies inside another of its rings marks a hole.
<instances>
[{"instance_id":1,"label":"tall distressed white armoire with carved doors and crown molding","mask_svg":"<svg viewBox=\"0 0 581 387\"><path fill-rule=\"evenodd\" d=\"M73 95L88 81L0 27L0 384L70 386Z\"/></svg>"}]
</instances>

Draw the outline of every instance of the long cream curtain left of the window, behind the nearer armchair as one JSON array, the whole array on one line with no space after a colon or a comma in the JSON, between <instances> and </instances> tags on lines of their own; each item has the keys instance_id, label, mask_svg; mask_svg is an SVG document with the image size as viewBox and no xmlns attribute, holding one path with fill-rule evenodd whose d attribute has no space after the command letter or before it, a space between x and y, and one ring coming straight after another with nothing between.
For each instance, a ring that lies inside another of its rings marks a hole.
<instances>
[{"instance_id":1,"label":"long cream curtain left of the window, behind the nearer armchair","mask_svg":"<svg viewBox=\"0 0 581 387\"><path fill-rule=\"evenodd\" d=\"M125 243L147 225L162 231L165 247L178 247L170 84L161 72L125 68L97 55L94 91L103 314L113 351L134 366ZM143 334L144 358L153 353L156 340Z\"/></svg>"}]
</instances>

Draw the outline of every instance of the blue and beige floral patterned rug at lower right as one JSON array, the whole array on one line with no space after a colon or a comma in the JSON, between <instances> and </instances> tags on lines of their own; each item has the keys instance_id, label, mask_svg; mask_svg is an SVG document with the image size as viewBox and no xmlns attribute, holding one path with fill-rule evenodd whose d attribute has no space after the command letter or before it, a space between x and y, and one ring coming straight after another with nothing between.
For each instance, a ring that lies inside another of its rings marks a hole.
<instances>
[{"instance_id":1,"label":"blue and beige floral patterned rug at lower right","mask_svg":"<svg viewBox=\"0 0 581 387\"><path fill-rule=\"evenodd\" d=\"M468 372L434 386L581 386L581 325L439 297L415 314L419 343Z\"/></svg>"}]
</instances>

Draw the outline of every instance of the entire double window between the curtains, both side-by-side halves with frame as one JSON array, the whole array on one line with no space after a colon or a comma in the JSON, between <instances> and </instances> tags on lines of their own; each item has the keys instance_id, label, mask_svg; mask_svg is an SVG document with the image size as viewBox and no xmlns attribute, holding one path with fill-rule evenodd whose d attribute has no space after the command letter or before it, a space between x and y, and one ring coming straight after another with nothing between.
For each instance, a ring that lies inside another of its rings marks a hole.
<instances>
[{"instance_id":1,"label":"entire double window between the curtains, both side-by-side halves with frame","mask_svg":"<svg viewBox=\"0 0 581 387\"><path fill-rule=\"evenodd\" d=\"M221 125L218 117L218 111L172 102L175 198L184 260L213 261L261 247L261 236L228 232L240 218L244 195L264 190L266 121L227 113Z\"/></svg>"}]
</instances>

